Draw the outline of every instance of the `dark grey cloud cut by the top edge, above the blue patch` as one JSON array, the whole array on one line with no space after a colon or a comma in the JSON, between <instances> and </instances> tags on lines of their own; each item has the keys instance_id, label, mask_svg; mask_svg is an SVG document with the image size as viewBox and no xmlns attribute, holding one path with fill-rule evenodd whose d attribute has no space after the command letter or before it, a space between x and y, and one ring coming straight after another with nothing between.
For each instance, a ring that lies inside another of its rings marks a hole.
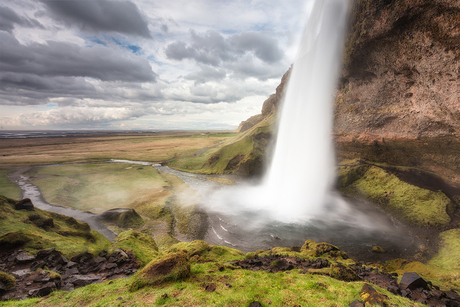
<instances>
[{"instance_id":1,"label":"dark grey cloud cut by the top edge, above the blue patch","mask_svg":"<svg viewBox=\"0 0 460 307\"><path fill-rule=\"evenodd\" d=\"M130 1L42 0L52 16L83 31L118 32L151 38L148 24L139 8Z\"/></svg>"}]
</instances>

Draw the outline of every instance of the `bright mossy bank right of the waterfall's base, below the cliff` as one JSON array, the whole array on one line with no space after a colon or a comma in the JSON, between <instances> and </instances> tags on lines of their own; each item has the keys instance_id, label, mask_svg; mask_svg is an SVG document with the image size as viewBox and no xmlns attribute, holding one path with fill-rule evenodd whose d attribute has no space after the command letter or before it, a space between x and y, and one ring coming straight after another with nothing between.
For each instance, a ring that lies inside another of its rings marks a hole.
<instances>
[{"instance_id":1,"label":"bright mossy bank right of the waterfall's base, below the cliff","mask_svg":"<svg viewBox=\"0 0 460 307\"><path fill-rule=\"evenodd\" d=\"M422 189L388 174L376 166L342 167L340 191L380 205L388 212L418 226L450 222L449 198L442 192Z\"/></svg>"}]
</instances>

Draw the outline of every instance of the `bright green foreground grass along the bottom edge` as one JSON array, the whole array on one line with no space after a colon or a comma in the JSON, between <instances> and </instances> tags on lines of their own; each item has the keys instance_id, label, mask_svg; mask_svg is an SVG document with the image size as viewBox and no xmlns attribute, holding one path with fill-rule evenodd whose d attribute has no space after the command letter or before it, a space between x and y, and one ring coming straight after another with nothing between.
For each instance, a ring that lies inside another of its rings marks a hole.
<instances>
[{"instance_id":1,"label":"bright green foreground grass along the bottom edge","mask_svg":"<svg viewBox=\"0 0 460 307\"><path fill-rule=\"evenodd\" d=\"M39 299L0 303L1 306L348 306L360 299L362 282L343 282L326 276L215 270L215 263L192 264L191 276L162 286L128 292L134 277L94 284L71 292L54 292ZM216 291L206 292L206 284ZM231 285L231 287L226 286ZM396 306L421 306L375 286ZM166 296L164 296L166 294ZM162 298L162 296L164 298Z\"/></svg>"}]
</instances>

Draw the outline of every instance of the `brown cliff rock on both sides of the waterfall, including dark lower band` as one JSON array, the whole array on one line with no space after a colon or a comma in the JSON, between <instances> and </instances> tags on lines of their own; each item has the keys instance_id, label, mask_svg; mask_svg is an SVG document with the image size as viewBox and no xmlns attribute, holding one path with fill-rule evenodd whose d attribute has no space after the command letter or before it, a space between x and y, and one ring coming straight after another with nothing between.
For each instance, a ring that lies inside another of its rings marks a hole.
<instances>
[{"instance_id":1,"label":"brown cliff rock on both sides of the waterfall, including dark lower band","mask_svg":"<svg viewBox=\"0 0 460 307\"><path fill-rule=\"evenodd\" d=\"M460 180L460 1L356 0L337 89L339 159ZM289 71L250 129L276 112Z\"/></svg>"}]
</instances>

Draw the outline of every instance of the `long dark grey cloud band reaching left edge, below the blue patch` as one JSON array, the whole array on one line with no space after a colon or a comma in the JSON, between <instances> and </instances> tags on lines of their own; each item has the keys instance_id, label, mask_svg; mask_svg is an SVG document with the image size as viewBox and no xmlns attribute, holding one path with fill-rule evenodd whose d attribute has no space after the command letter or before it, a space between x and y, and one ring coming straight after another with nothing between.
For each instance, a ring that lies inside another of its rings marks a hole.
<instances>
[{"instance_id":1,"label":"long dark grey cloud band reaching left edge, below the blue patch","mask_svg":"<svg viewBox=\"0 0 460 307\"><path fill-rule=\"evenodd\" d=\"M1 72L126 82L153 82L156 78L146 59L101 45L81 47L48 41L26 46L5 32L0 32L0 41Z\"/></svg>"}]
</instances>

